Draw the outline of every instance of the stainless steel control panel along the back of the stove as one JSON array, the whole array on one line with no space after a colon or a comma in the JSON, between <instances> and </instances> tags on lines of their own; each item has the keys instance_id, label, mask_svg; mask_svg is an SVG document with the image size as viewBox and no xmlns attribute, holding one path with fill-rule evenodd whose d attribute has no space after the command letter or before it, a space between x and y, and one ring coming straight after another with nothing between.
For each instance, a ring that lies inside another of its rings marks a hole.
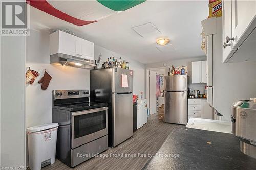
<instances>
[{"instance_id":1,"label":"stainless steel control panel along the back of the stove","mask_svg":"<svg viewBox=\"0 0 256 170\"><path fill-rule=\"evenodd\" d=\"M89 98L89 90L53 90L53 99Z\"/></svg>"}]
</instances>

